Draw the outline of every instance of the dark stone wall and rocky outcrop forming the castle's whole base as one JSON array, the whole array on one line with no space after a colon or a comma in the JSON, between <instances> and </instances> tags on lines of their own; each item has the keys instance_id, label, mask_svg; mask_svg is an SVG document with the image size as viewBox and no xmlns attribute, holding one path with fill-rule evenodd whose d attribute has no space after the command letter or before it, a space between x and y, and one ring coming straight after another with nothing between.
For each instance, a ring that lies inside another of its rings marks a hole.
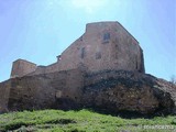
<instances>
[{"instance_id":1,"label":"dark stone wall and rocky outcrop forming the castle's whole base","mask_svg":"<svg viewBox=\"0 0 176 132\"><path fill-rule=\"evenodd\" d=\"M0 89L0 112L92 108L111 113L176 113L176 86L138 72L62 70L12 78Z\"/></svg>"}]
</instances>

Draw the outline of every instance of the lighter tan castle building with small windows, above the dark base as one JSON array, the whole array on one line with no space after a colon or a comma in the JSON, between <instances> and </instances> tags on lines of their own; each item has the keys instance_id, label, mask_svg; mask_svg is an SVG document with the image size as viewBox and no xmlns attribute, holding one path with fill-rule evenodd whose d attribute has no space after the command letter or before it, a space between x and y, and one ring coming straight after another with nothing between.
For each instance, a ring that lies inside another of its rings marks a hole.
<instances>
[{"instance_id":1,"label":"lighter tan castle building with small windows, above the dark base","mask_svg":"<svg viewBox=\"0 0 176 132\"><path fill-rule=\"evenodd\" d=\"M18 59L13 62L11 78L85 68L90 72L125 69L144 73L143 52L139 42L118 22L96 22L76 40L57 62L48 66Z\"/></svg>"}]
</instances>

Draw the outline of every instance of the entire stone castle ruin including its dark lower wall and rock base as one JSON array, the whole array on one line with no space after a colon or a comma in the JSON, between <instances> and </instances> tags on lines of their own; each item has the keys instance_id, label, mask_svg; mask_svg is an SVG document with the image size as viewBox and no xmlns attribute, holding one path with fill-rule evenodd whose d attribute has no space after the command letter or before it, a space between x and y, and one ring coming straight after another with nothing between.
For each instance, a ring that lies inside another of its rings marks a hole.
<instances>
[{"instance_id":1,"label":"entire stone castle ruin including its dark lower wall and rock base","mask_svg":"<svg viewBox=\"0 0 176 132\"><path fill-rule=\"evenodd\" d=\"M145 74L142 48L120 23L89 23L56 63L18 59L0 82L0 112L50 108L176 113L176 86Z\"/></svg>"}]
</instances>

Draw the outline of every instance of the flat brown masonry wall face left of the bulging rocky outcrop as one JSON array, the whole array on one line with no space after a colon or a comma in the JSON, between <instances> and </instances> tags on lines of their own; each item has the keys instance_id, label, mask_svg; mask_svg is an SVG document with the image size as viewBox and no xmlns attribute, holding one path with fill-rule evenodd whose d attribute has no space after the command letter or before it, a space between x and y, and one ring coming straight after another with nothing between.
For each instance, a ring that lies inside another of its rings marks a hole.
<instances>
[{"instance_id":1,"label":"flat brown masonry wall face left of the bulging rocky outcrop","mask_svg":"<svg viewBox=\"0 0 176 132\"><path fill-rule=\"evenodd\" d=\"M10 84L9 110L64 108L56 101L80 101L84 79L80 70L73 69L13 78Z\"/></svg>"}]
</instances>

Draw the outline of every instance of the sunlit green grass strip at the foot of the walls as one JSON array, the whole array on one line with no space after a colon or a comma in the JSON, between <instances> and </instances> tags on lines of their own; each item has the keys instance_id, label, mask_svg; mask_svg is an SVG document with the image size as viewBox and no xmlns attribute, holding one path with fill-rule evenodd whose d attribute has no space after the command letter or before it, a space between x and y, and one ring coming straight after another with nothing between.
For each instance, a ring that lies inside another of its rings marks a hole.
<instances>
[{"instance_id":1,"label":"sunlit green grass strip at the foot of the walls","mask_svg":"<svg viewBox=\"0 0 176 132\"><path fill-rule=\"evenodd\" d=\"M168 129L146 129L146 127ZM129 130L129 131L125 131ZM122 119L89 110L38 110L0 114L0 132L173 132L176 116Z\"/></svg>"}]
</instances>

